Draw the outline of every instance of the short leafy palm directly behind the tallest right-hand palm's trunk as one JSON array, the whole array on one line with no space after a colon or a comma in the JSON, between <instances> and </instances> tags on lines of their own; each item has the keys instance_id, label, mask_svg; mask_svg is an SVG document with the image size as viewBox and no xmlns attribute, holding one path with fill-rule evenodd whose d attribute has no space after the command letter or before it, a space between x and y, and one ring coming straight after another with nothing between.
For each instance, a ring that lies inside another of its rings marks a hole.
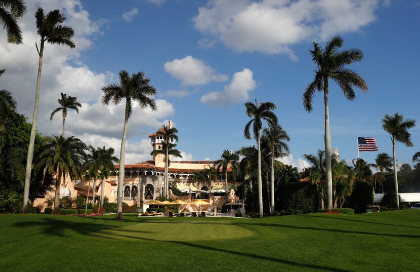
<instances>
[{"instance_id":1,"label":"short leafy palm directly behind the tallest right-hand palm's trunk","mask_svg":"<svg viewBox=\"0 0 420 272\"><path fill-rule=\"evenodd\" d=\"M318 185L319 183L325 181L325 151L318 149L316 154L304 154L302 156L311 167L308 169L309 171L309 181L312 184L316 185L316 188L319 192L320 199L321 199L321 210L324 209L324 189L322 184ZM331 185L332 185L332 172L331 172ZM331 188L331 197L332 197L332 188ZM331 199L332 202L332 199Z\"/></svg>"}]
</instances>

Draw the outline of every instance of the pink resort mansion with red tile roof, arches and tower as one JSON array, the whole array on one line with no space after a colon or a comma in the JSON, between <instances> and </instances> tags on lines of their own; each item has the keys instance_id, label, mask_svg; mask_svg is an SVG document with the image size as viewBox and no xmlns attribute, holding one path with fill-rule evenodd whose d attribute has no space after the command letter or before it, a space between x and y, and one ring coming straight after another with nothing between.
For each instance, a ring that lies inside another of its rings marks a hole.
<instances>
[{"instance_id":1,"label":"pink resort mansion with red tile roof, arches and tower","mask_svg":"<svg viewBox=\"0 0 420 272\"><path fill-rule=\"evenodd\" d=\"M169 121L170 128L172 122ZM162 136L158 135L163 130L163 126L155 133L149 135L151 150L162 148ZM180 199L184 202L191 202L194 199L205 199L210 203L210 207L222 207L224 203L237 201L242 195L242 183L230 182L228 180L228 188L225 185L223 173L219 173L217 180L199 180L194 178L195 174L201 170L209 169L214 166L215 161L171 161L169 166L169 197L173 200ZM123 202L128 205L136 205L148 208L147 201L156 199L163 195L163 176L164 176L164 156L157 154L152 156L150 161L139 162L136 164L127 164L124 166L123 179ZM228 169L228 172L231 170ZM104 182L104 195L109 202L117 201L117 184L119 175L119 165L115 165L114 171L110 173L109 179ZM87 197L89 181L71 181L69 177L66 182L62 179L62 189L60 197L77 196ZM89 188L89 199L92 200L95 193L95 202L99 201L101 193L101 181L96 181L96 188L93 188L91 181ZM233 185L233 186L232 186ZM230 188L235 188L230 190ZM95 192L93 192L93 189ZM239 196L237 196L239 193ZM47 197L54 196L54 192L50 192ZM44 210L46 207L45 199L36 199L34 206ZM184 205L182 208L188 207Z\"/></svg>"}]
</instances>

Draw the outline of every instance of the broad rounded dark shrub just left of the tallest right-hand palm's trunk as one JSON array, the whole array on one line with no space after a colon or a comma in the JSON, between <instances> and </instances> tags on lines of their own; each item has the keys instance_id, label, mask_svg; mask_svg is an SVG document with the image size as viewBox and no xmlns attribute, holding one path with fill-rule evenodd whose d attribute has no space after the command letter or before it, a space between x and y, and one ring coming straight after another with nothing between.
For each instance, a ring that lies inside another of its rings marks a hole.
<instances>
[{"instance_id":1,"label":"broad rounded dark shrub just left of the tallest right-hand palm's trunk","mask_svg":"<svg viewBox=\"0 0 420 272\"><path fill-rule=\"evenodd\" d=\"M318 210L318 194L308 183L289 183L282 190L280 208L291 214L312 213Z\"/></svg>"}]
</instances>

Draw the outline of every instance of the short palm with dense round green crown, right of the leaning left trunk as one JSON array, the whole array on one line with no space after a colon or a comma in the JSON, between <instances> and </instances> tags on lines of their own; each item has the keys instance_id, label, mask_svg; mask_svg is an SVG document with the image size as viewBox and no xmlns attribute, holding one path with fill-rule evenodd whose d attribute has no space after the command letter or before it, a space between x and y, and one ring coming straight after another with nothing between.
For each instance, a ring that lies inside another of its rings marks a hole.
<instances>
[{"instance_id":1,"label":"short palm with dense round green crown, right of the leaning left trunk","mask_svg":"<svg viewBox=\"0 0 420 272\"><path fill-rule=\"evenodd\" d=\"M45 173L56 173L54 213L59 213L61 178L81 176L82 164L86 160L86 144L77 138L63 136L45 137L36 168L44 168Z\"/></svg>"}]
</instances>

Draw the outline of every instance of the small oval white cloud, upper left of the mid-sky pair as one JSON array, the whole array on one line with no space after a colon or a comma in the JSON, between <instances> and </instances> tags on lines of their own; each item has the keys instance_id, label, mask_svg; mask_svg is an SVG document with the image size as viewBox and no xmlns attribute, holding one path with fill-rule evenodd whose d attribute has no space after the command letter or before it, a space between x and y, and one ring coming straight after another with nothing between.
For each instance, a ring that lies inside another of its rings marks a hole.
<instances>
[{"instance_id":1,"label":"small oval white cloud, upper left of the mid-sky pair","mask_svg":"<svg viewBox=\"0 0 420 272\"><path fill-rule=\"evenodd\" d=\"M195 59L192 56L168 61L163 67L166 72L180 80L182 85L204 85L212 81L223 82L228 80L227 75L217 74L203 60Z\"/></svg>"}]
</instances>

